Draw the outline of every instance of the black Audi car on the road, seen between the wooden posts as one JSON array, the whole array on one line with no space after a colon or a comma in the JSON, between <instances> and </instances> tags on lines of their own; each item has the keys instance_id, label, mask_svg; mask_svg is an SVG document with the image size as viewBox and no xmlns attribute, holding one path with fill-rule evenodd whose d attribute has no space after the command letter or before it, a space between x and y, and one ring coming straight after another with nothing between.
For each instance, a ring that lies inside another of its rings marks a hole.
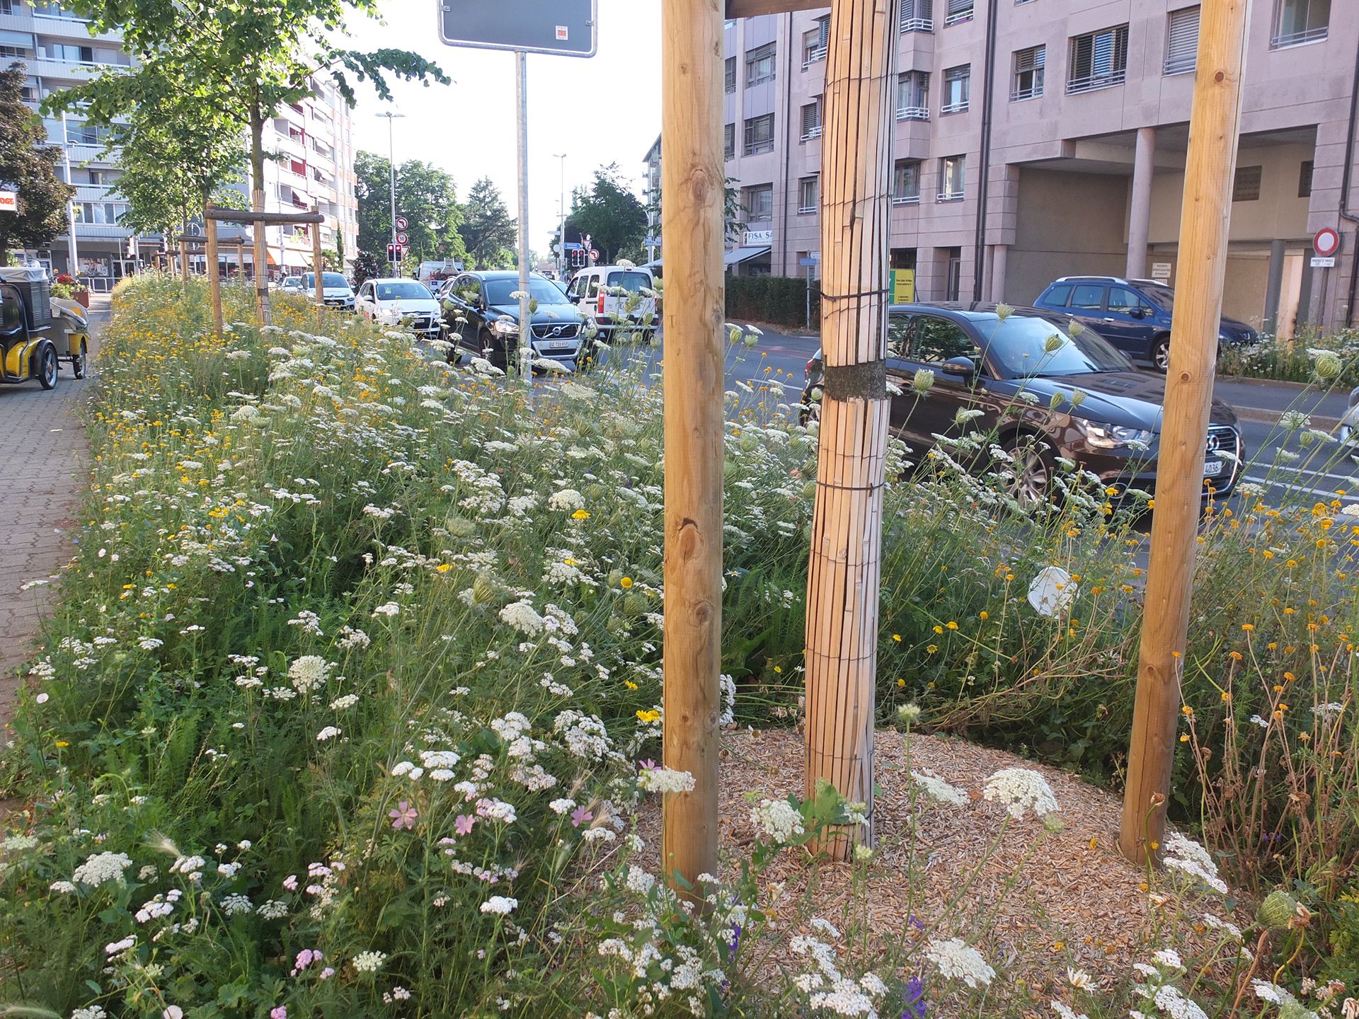
<instances>
[{"instance_id":1,"label":"black Audi car on the road, seen between the wooden posts","mask_svg":"<svg viewBox=\"0 0 1359 1019\"><path fill-rule=\"evenodd\" d=\"M1105 485L1154 489L1165 376L1139 371L1094 330L1070 330L1041 308L1012 308L1002 318L995 304L970 303L897 304L887 322L887 380L901 390L892 397L892 427L917 457L936 435L995 429L999 446L1015 455L1025 499L1044 497L1057 457ZM921 368L934 372L934 386L917 397L912 380ZM802 395L813 413L821 376L818 351ZM1007 408L1021 413L1006 414ZM959 427L959 410L981 413ZM1230 492L1242 459L1237 416L1214 399L1204 493L1210 484L1218 495Z\"/></svg>"}]
</instances>

